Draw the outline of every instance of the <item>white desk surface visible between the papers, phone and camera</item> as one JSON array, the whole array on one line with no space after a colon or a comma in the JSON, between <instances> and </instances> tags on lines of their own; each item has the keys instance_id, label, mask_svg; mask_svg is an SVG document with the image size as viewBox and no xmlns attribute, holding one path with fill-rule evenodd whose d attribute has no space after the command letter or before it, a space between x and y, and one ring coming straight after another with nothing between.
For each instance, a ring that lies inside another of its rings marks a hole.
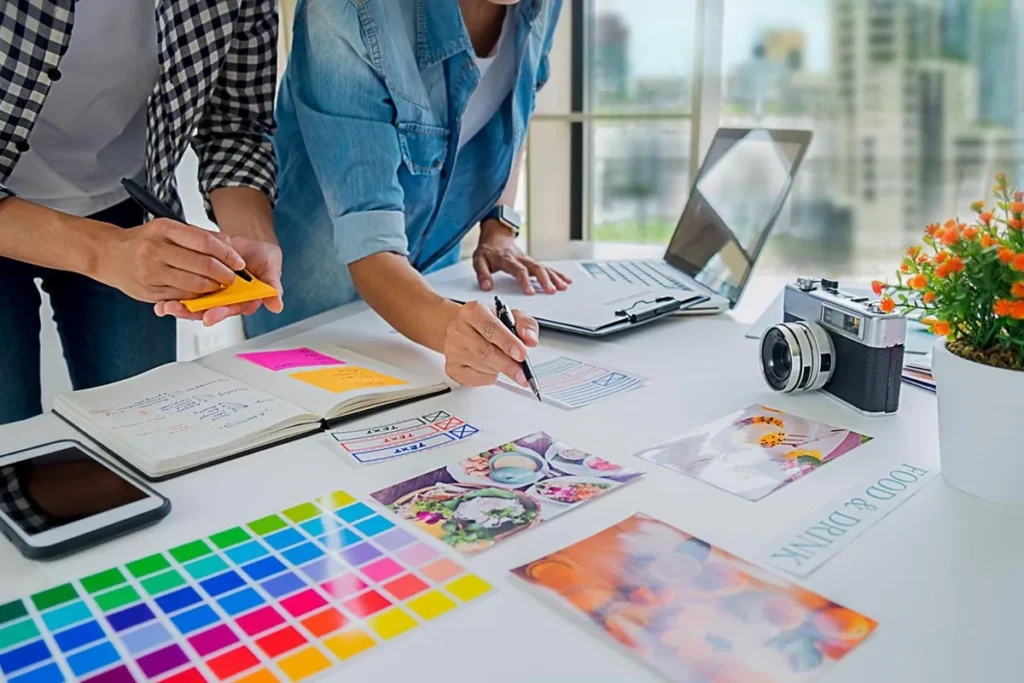
<instances>
[{"instance_id":1,"label":"white desk surface visible between the papers, phone and camera","mask_svg":"<svg viewBox=\"0 0 1024 683\"><path fill-rule=\"evenodd\" d=\"M355 304L301 328L323 325L330 340L354 350L396 365L423 364L439 371L436 357L390 333L379 318L356 315L365 310ZM572 413L501 388L457 391L417 405L453 411L481 428L478 436L447 449L355 469L332 450L330 437L318 435L159 484L174 510L152 529L49 564L30 562L0 543L0 602L336 488L366 496L544 429L591 453L645 470L647 476L471 560L472 567L498 587L496 595L357 658L329 680L659 680L510 583L508 569L637 511L751 557L764 543L873 473L880 463L895 465L910 458L937 465L931 394L904 387L901 412L892 419L861 418L820 395L772 394L762 386L755 344L743 338L743 331L732 321L705 318L668 322L603 342L548 335L544 343L549 347L653 379L643 389ZM754 402L877 438L756 504L632 456ZM409 411L398 409L395 414ZM51 416L0 428L3 451L62 436L75 434ZM984 454L978 458L983 466ZM1024 607L1022 526L1024 507L983 503L940 478L869 529L805 582L809 589L881 625L824 680L1021 680L1024 647L1019 644L1017 620Z\"/></svg>"}]
</instances>

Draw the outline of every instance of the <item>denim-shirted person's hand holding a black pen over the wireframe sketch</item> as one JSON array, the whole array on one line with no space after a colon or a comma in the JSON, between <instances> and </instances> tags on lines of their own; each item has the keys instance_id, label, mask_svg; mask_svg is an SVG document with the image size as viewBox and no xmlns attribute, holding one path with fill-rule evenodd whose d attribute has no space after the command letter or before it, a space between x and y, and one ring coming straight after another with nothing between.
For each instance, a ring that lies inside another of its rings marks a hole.
<instances>
[{"instance_id":1,"label":"denim-shirted person's hand holding a black pen over the wireframe sketch","mask_svg":"<svg viewBox=\"0 0 1024 683\"><path fill-rule=\"evenodd\" d=\"M526 358L526 348L538 344L537 321L521 311L513 311L516 335L495 312L478 301L460 306L444 334L444 372L462 386L486 386L505 375L523 387L528 386L519 366Z\"/></svg>"}]
</instances>

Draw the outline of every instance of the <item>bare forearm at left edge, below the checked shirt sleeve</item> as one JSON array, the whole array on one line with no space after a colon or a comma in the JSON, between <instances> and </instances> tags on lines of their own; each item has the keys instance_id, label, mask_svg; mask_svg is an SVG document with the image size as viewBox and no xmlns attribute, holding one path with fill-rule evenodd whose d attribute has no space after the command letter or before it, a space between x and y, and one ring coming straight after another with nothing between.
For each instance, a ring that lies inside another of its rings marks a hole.
<instances>
[{"instance_id":1,"label":"bare forearm at left edge, below the checked shirt sleeve","mask_svg":"<svg viewBox=\"0 0 1024 683\"><path fill-rule=\"evenodd\" d=\"M104 239L118 228L11 197L0 202L0 256L95 278Z\"/></svg>"}]
</instances>

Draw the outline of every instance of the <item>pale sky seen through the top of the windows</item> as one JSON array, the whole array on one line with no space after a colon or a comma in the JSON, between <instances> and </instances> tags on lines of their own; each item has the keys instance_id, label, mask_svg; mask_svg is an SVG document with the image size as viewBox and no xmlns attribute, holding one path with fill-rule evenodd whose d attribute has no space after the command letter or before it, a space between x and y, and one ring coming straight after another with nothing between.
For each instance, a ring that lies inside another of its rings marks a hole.
<instances>
[{"instance_id":1,"label":"pale sky seen through the top of the windows","mask_svg":"<svg viewBox=\"0 0 1024 683\"><path fill-rule=\"evenodd\" d=\"M630 66L636 76L689 75L693 63L695 0L593 0L595 10L624 16L631 29ZM831 0L723 0L725 73L751 57L761 32L800 29L807 68L828 70ZM799 10L795 5L800 5Z\"/></svg>"}]
</instances>

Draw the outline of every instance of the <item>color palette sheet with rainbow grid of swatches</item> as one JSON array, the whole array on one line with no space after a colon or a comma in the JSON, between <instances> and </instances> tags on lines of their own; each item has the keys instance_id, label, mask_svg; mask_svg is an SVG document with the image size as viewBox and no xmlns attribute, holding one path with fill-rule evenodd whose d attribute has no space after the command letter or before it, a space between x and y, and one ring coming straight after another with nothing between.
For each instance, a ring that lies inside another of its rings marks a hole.
<instances>
[{"instance_id":1,"label":"color palette sheet with rainbow grid of swatches","mask_svg":"<svg viewBox=\"0 0 1024 683\"><path fill-rule=\"evenodd\" d=\"M301 681L492 590L336 492L0 603L0 680Z\"/></svg>"}]
</instances>

